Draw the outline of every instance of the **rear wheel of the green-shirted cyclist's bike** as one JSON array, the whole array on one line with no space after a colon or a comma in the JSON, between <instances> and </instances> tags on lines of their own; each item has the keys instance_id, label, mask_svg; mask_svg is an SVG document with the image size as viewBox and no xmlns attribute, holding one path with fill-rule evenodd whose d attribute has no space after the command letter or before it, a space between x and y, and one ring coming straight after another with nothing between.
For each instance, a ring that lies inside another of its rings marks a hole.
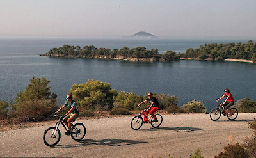
<instances>
[{"instance_id":1,"label":"rear wheel of the green-shirted cyclist's bike","mask_svg":"<svg viewBox=\"0 0 256 158\"><path fill-rule=\"evenodd\" d=\"M75 141L81 141L86 134L86 128L83 123L76 123L71 129L71 138Z\"/></svg>"}]
</instances>

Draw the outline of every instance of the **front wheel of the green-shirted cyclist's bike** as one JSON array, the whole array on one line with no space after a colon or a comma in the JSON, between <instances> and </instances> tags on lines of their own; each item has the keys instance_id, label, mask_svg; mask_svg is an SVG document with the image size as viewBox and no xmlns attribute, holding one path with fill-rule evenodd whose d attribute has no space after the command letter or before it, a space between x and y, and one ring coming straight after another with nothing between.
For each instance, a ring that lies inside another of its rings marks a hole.
<instances>
[{"instance_id":1,"label":"front wheel of the green-shirted cyclist's bike","mask_svg":"<svg viewBox=\"0 0 256 158\"><path fill-rule=\"evenodd\" d=\"M56 127L50 127L47 130L45 130L43 140L45 145L52 147L59 143L60 137L60 130L56 129Z\"/></svg>"}]
</instances>

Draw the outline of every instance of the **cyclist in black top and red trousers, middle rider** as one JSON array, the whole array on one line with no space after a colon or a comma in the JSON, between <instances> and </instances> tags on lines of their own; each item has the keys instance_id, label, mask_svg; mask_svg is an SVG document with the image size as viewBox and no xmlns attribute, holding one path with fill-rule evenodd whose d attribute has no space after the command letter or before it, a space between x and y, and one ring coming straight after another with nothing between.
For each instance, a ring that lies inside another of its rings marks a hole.
<instances>
[{"instance_id":1,"label":"cyclist in black top and red trousers, middle rider","mask_svg":"<svg viewBox=\"0 0 256 158\"><path fill-rule=\"evenodd\" d=\"M148 101L150 101L151 104L150 104L150 107L147 109L147 111L149 111L148 113L150 113L150 115L153 116L152 122L157 122L157 118L154 115L154 113L156 113L156 111L159 109L160 106L159 106L159 102L156 99L156 97L153 97L153 93L151 93L151 92L148 93L148 98L146 100L144 100L143 102L141 102L140 104L138 104L138 107L140 107L141 104L144 104ZM145 116L147 116L147 113L143 112L143 114ZM148 123L147 121L148 121L147 118L144 117L143 123Z\"/></svg>"}]
</instances>

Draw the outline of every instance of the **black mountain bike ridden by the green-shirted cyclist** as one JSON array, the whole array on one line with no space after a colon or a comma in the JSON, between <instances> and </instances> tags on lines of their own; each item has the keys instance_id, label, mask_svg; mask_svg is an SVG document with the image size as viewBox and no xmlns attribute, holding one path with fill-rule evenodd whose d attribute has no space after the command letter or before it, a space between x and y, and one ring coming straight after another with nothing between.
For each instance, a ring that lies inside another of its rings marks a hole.
<instances>
[{"instance_id":1,"label":"black mountain bike ridden by the green-shirted cyclist","mask_svg":"<svg viewBox=\"0 0 256 158\"><path fill-rule=\"evenodd\" d=\"M47 130L45 130L43 135L43 140L45 145L47 146L55 146L59 143L61 134L59 125L63 125L64 129L68 131L66 125L63 122L67 122L66 120L63 120L64 116L54 115L58 117L58 121L54 127L49 127ZM71 138L75 141L81 141L86 134L86 128L83 123L76 123L75 125L71 124Z\"/></svg>"}]
</instances>

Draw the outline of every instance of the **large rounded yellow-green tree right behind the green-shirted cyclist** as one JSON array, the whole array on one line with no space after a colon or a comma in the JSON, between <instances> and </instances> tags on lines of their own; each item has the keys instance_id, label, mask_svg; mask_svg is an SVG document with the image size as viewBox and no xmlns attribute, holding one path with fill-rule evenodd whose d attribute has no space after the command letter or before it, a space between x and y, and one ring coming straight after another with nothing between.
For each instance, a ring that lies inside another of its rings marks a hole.
<instances>
[{"instance_id":1,"label":"large rounded yellow-green tree right behind the green-shirted cyclist","mask_svg":"<svg viewBox=\"0 0 256 158\"><path fill-rule=\"evenodd\" d=\"M70 89L73 99L85 109L95 110L96 106L113 107L113 97L117 95L111 84L89 79L84 84L74 84Z\"/></svg>"}]
</instances>

